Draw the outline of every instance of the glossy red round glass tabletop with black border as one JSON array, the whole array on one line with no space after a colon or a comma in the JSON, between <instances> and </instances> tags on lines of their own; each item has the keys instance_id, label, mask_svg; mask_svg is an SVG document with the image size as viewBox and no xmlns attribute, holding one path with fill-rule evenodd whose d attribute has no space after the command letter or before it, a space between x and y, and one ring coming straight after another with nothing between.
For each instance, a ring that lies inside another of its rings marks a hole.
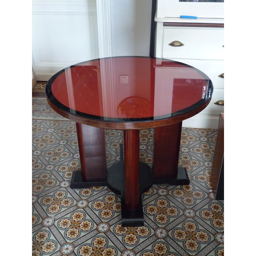
<instances>
[{"instance_id":1,"label":"glossy red round glass tabletop with black border","mask_svg":"<svg viewBox=\"0 0 256 256\"><path fill-rule=\"evenodd\" d=\"M171 118L203 105L209 77L171 60L113 57L85 61L52 76L50 102L76 116L113 122Z\"/></svg>"}]
</instances>

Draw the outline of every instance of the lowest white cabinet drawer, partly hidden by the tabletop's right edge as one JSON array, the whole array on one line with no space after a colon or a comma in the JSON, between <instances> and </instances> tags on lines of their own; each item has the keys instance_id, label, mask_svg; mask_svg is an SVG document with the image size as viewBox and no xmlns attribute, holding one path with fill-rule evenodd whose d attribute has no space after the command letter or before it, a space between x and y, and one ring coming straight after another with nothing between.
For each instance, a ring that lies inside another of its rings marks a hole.
<instances>
[{"instance_id":1,"label":"lowest white cabinet drawer, partly hidden by the tabletop's right edge","mask_svg":"<svg viewBox=\"0 0 256 256\"><path fill-rule=\"evenodd\" d=\"M220 113L224 113L224 106L214 104L218 100L224 100L224 90L214 89L213 87L212 100L200 114L220 115Z\"/></svg>"}]
</instances>

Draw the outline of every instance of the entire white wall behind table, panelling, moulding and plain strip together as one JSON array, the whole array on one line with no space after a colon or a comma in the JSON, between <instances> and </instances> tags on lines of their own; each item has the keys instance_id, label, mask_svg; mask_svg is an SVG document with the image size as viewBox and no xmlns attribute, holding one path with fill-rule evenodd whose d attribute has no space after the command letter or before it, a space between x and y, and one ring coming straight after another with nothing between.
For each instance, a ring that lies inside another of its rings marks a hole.
<instances>
[{"instance_id":1,"label":"entire white wall behind table, panelling, moulding and plain strip together","mask_svg":"<svg viewBox=\"0 0 256 256\"><path fill-rule=\"evenodd\" d=\"M152 1L104 1L32 0L32 67L36 80L47 81L70 65L106 57L106 51L99 54L98 42L103 48L110 45L107 56L149 56ZM111 27L112 32L106 38L98 38L96 3L101 10L106 3L110 5L111 22L102 13L98 17L99 36ZM111 42L106 43L106 39Z\"/></svg>"}]
</instances>

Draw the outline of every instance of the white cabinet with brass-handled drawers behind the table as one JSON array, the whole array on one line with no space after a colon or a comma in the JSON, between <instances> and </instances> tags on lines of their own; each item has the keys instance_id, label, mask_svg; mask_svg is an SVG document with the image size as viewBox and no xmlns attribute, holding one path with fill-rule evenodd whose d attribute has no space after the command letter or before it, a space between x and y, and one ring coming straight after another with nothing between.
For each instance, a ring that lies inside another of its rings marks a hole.
<instances>
[{"instance_id":1,"label":"white cabinet with brass-handled drawers behind the table","mask_svg":"<svg viewBox=\"0 0 256 256\"><path fill-rule=\"evenodd\" d=\"M193 66L205 73L213 84L212 100L209 105L196 116L184 120L182 125L217 129L220 113L224 113L223 105L214 104L218 100L224 100L224 78L221 76L224 73L224 24L205 23L207 19L196 21L185 19L184 21L181 18L176 20L169 17L159 18L158 12L168 13L168 10L161 9L163 7L166 7L163 3L160 3L160 9L159 5L157 6L155 17L157 21L155 57ZM221 19L217 20L224 22ZM173 41L180 41L182 46L172 46Z\"/></svg>"}]
</instances>

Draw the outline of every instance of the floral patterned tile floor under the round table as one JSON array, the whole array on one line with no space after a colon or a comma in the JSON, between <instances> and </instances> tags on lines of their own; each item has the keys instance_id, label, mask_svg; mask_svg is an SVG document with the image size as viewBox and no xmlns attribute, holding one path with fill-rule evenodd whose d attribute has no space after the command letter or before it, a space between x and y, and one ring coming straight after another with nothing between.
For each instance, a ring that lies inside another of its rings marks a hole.
<instances>
[{"instance_id":1,"label":"floral patterned tile floor under the round table","mask_svg":"<svg viewBox=\"0 0 256 256\"><path fill-rule=\"evenodd\" d=\"M182 128L179 166L190 185L153 185L142 195L145 225L122 227L121 200L107 187L71 189L81 168L76 124L32 92L32 255L224 255L224 202L213 200L216 129ZM140 161L152 166L153 129L140 131ZM107 167L119 161L122 131L105 130Z\"/></svg>"}]
</instances>

